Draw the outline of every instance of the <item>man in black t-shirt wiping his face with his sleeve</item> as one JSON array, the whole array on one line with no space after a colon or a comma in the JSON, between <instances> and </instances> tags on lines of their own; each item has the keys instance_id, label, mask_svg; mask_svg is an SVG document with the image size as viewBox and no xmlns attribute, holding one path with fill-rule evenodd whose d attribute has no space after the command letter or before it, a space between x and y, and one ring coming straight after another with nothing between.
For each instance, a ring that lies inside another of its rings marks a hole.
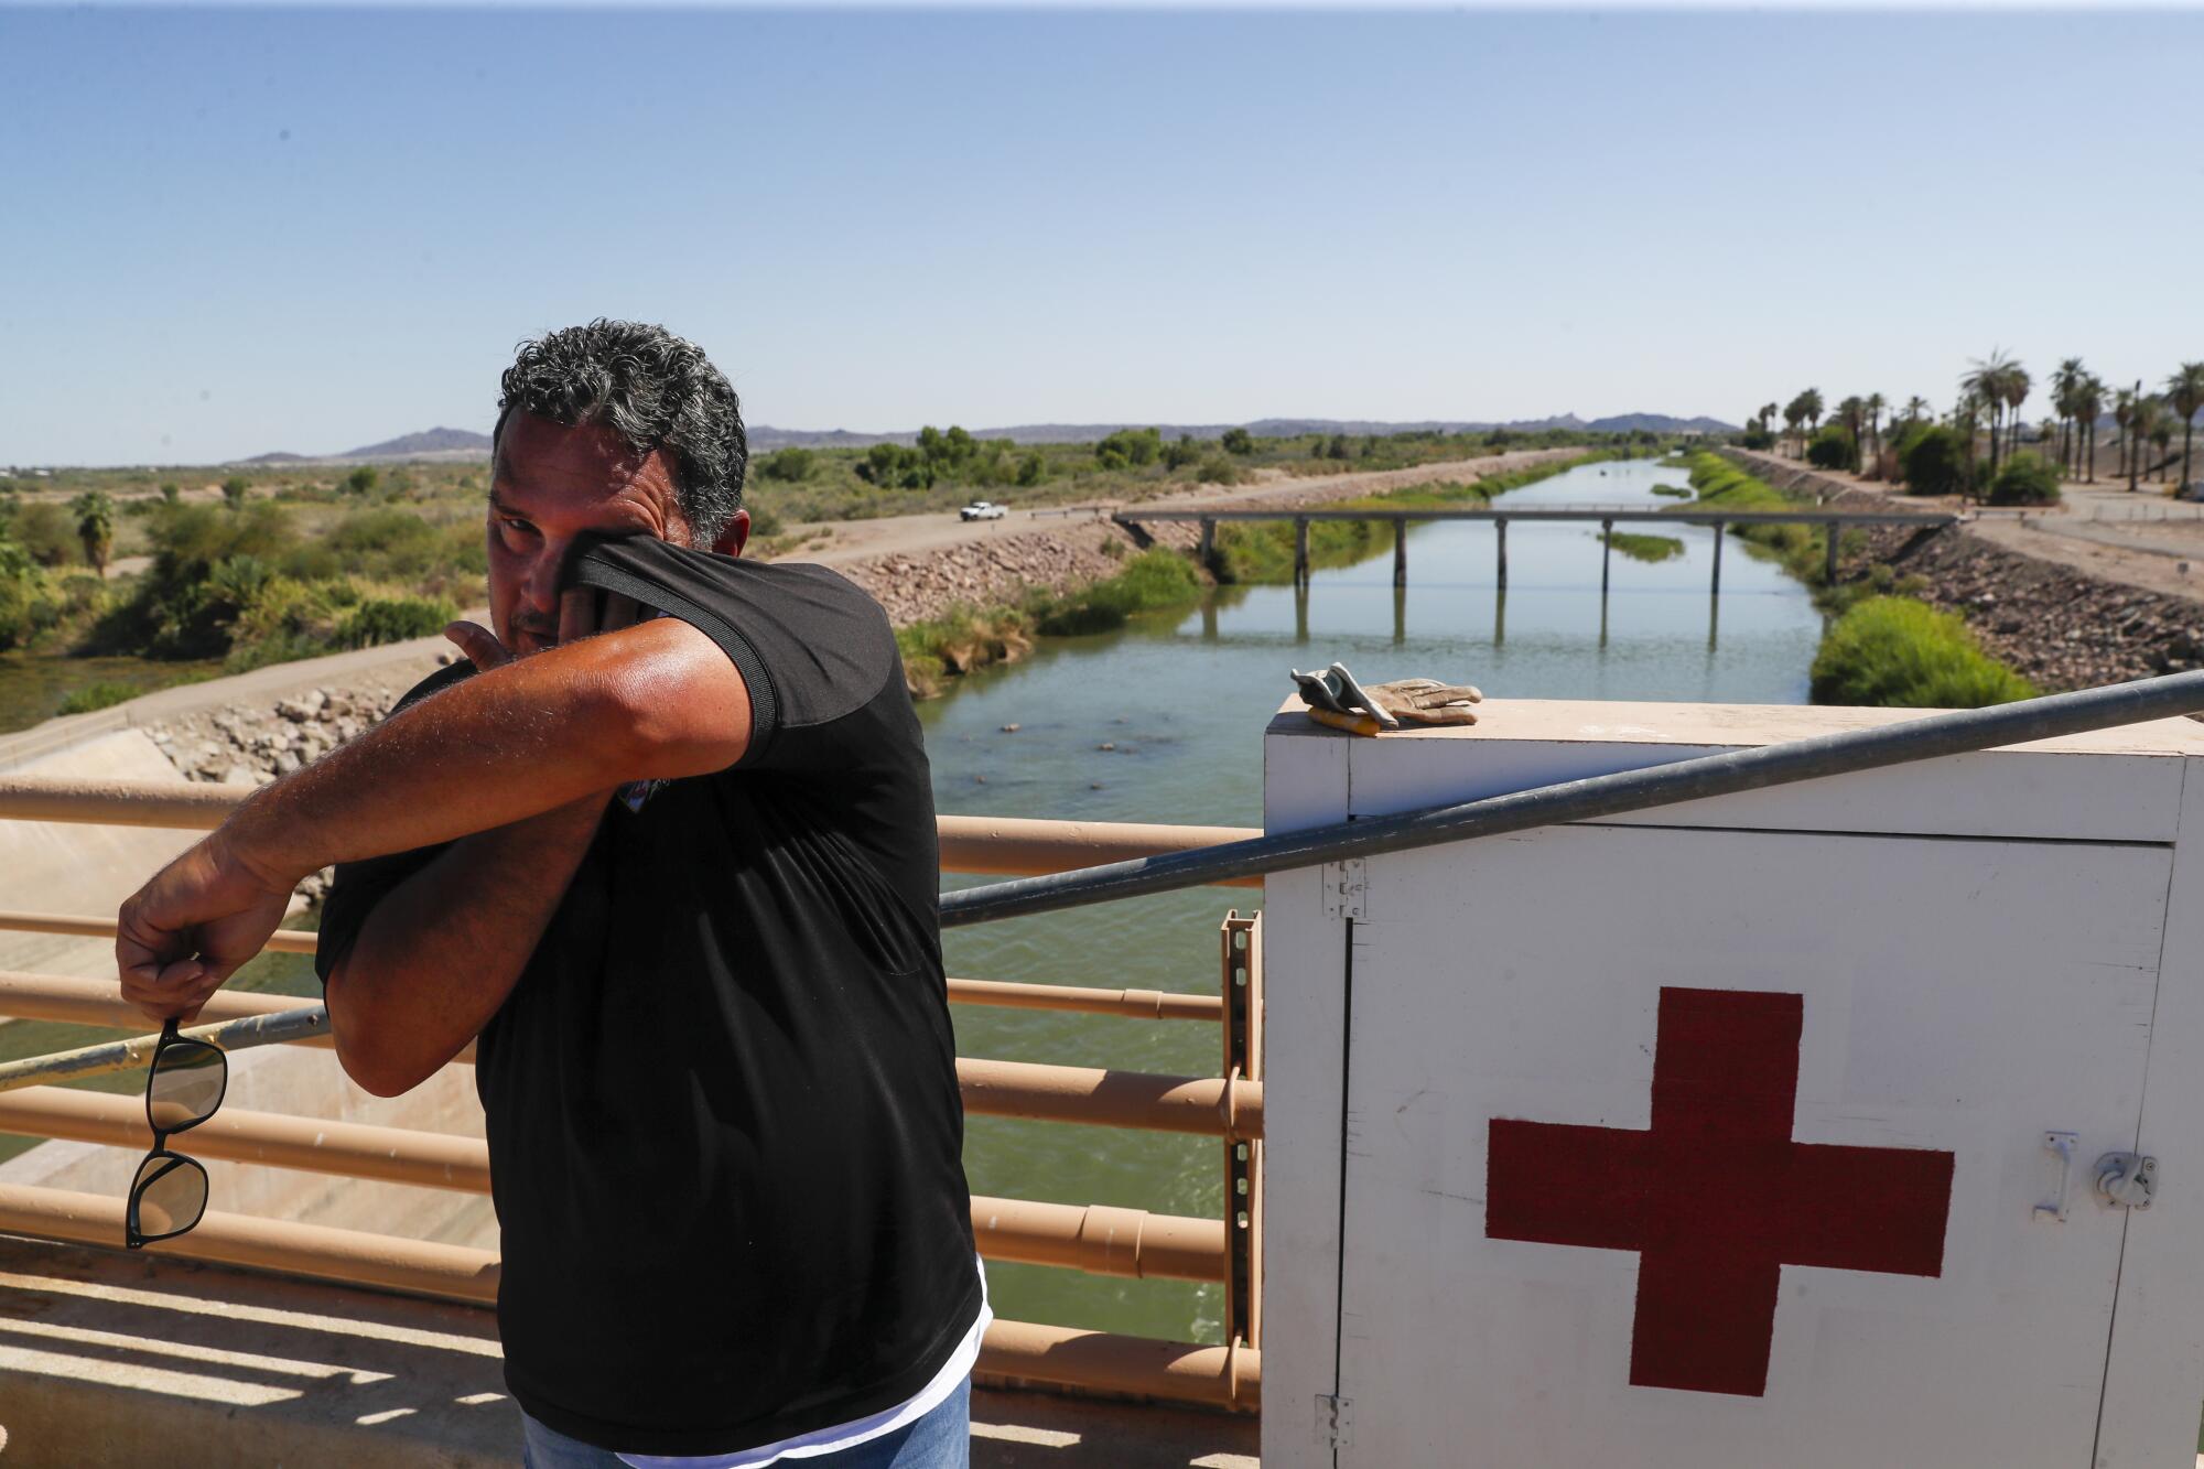
<instances>
[{"instance_id":1,"label":"man in black t-shirt wiping his face with his sleeve","mask_svg":"<svg viewBox=\"0 0 2204 1469\"><path fill-rule=\"evenodd\" d=\"M476 1048L533 1465L963 1465L972 1248L919 723L882 609L741 560L725 377L593 322L505 375L494 631L123 904L196 1015L295 882L344 1070Z\"/></svg>"}]
</instances>

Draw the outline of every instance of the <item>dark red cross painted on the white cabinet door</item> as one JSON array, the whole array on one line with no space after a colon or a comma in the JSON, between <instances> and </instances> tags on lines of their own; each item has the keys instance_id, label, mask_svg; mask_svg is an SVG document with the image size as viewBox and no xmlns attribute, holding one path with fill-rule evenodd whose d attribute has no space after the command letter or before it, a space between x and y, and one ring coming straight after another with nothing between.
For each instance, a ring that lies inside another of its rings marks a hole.
<instances>
[{"instance_id":1,"label":"dark red cross painted on the white cabinet door","mask_svg":"<svg viewBox=\"0 0 2204 1469\"><path fill-rule=\"evenodd\" d=\"M1638 1387L1761 1396L1787 1264L1944 1270L1951 1154L1792 1143L1803 1017L1664 988L1651 1129L1492 1118L1485 1235L1638 1251Z\"/></svg>"}]
</instances>

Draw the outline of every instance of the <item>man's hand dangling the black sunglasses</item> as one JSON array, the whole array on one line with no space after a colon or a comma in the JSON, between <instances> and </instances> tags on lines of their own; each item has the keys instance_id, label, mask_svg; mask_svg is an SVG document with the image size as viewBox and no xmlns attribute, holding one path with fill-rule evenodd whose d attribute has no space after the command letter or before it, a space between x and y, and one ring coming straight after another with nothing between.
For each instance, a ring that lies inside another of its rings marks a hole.
<instances>
[{"instance_id":1,"label":"man's hand dangling the black sunglasses","mask_svg":"<svg viewBox=\"0 0 2204 1469\"><path fill-rule=\"evenodd\" d=\"M253 871L216 832L123 902L115 968L150 1019L194 1019L276 933L295 880Z\"/></svg>"}]
</instances>

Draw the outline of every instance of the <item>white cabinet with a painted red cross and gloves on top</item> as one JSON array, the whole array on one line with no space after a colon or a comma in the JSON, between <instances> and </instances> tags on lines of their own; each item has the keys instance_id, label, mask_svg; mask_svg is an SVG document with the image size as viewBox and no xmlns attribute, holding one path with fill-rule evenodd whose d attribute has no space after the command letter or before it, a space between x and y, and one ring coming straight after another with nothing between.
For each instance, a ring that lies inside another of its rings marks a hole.
<instances>
[{"instance_id":1,"label":"white cabinet with a painted red cross and gloves on top","mask_svg":"<svg viewBox=\"0 0 2204 1469\"><path fill-rule=\"evenodd\" d=\"M1479 743L1311 741L1285 723L1270 770L1296 785L1274 785L1272 825L1294 803L1311 818L1333 803L1378 814L1481 794L1494 768L1512 790L1587 759L1620 768L1715 743L1699 712L1673 719L1693 726L1688 741L1530 737L1602 723L1585 708L1602 706L1503 706ZM1627 708L1605 706L1607 719ZM1525 737L1508 739L1510 723ZM1732 719L1721 743L1741 732ZM2193 1125L2147 1118L2184 1105L2175 1092L2197 1101L2186 1076L2204 1070L2189 1017L2197 951L2182 962L2189 924L2167 922L2173 891L2197 884L2175 838L2186 757L2204 743L2182 728L2076 743L1699 803L1677 825L1646 814L1371 858L1360 915L1325 902L1320 873L1274 882L1265 1462L2065 1469L2096 1451L2186 1465L2204 1401L2184 1310L2204 1273L2180 1143ZM2045 829L2074 787L2089 840ZM1735 1074L1701 1065L1690 1085L1724 1101L1673 1114L1682 1140L1649 1167L1633 1149L1662 1132L1662 1057L1693 1050L1677 1043L1690 1017L1664 1012L1664 995L1704 1001L1701 1021L1794 1006L1796 1028L1785 1061L1781 1034L1772 1052L1761 1043L1765 1023L1719 1021L1715 1054L1730 1043ZM2160 1017L2180 1034L2158 1032ZM1750 1096L1752 1076L1765 1090L1785 1074L1783 1147L1704 1132L1752 1112L1726 1090ZM1281 1112L1300 1090L1309 1105ZM1497 1123L1532 1132L1494 1151ZM2147 1215L2092 1193L2092 1165L2136 1149L2138 1127L2164 1158ZM2059 1191L2050 1132L2076 1138L2063 1222L2036 1213ZM1622 1182L1613 1147L1635 1158ZM1732 1171L1726 1154L1746 1162ZM1838 1180L1878 1189L1948 1160L1933 1273L1884 1237L1904 1231L1878 1222L1878 1200L1772 1211L1796 1182L1785 1169L1832 1158L1854 1169ZM1607 1215L1642 1233L1646 1209L1671 1209L1649 1251L1536 1237ZM1721 1231L1779 1226L1805 1244L1754 1326L1752 1293L1726 1268L1761 1246ZM2162 1264L2136 1282L2144 1233L2142 1255ZM1816 1264L1816 1251L1869 1264ZM1311 1308L1327 1282L1331 1299ZM1657 1317L1646 1363L1642 1312Z\"/></svg>"}]
</instances>

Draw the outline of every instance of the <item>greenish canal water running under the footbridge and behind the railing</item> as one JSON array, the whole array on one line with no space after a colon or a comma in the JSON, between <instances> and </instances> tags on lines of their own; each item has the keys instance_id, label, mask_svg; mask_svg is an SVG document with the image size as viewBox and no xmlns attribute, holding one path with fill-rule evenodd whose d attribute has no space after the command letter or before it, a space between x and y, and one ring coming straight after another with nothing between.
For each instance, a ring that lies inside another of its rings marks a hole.
<instances>
[{"instance_id":1,"label":"greenish canal water running under the footbridge and behind the railing","mask_svg":"<svg viewBox=\"0 0 2204 1469\"><path fill-rule=\"evenodd\" d=\"M1527 505L1673 505L1653 461L1582 465L1508 494ZM1494 529L1408 532L1408 587L1391 547L1289 587L1223 589L1186 615L1049 640L919 706L941 812L1256 827L1263 726L1292 693L1287 668L1342 660L1358 677L1430 675L1492 697L1803 704L1823 620L1805 589L1730 540L1708 598L1713 532L1627 525L1684 543L1649 565L1616 551L1600 598L1598 525L1508 529L1508 593ZM1016 726L1016 730L1005 730ZM952 887L983 878L948 878ZM968 979L1217 993L1217 924L1256 889L1199 889L1023 918L946 935ZM965 1057L1217 1074L1214 1026L954 1006ZM1060 1123L968 1120L974 1193L1219 1218L1223 1145ZM1087 1277L990 1264L994 1308L1023 1321L1219 1341L1219 1286Z\"/></svg>"}]
</instances>

